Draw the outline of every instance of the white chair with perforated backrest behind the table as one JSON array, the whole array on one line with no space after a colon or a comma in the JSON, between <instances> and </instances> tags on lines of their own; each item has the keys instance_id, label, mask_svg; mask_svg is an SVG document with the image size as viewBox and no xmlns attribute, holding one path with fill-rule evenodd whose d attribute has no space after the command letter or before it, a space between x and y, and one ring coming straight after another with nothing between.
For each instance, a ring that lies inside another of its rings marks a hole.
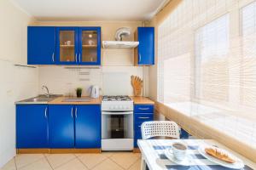
<instances>
[{"instance_id":1,"label":"white chair with perforated backrest behind the table","mask_svg":"<svg viewBox=\"0 0 256 170\"><path fill-rule=\"evenodd\" d=\"M179 127L176 122L171 121L150 121L143 122L142 124L142 137L143 140L152 137L171 137L179 139ZM141 170L148 169L146 162L142 156Z\"/></svg>"}]
</instances>

